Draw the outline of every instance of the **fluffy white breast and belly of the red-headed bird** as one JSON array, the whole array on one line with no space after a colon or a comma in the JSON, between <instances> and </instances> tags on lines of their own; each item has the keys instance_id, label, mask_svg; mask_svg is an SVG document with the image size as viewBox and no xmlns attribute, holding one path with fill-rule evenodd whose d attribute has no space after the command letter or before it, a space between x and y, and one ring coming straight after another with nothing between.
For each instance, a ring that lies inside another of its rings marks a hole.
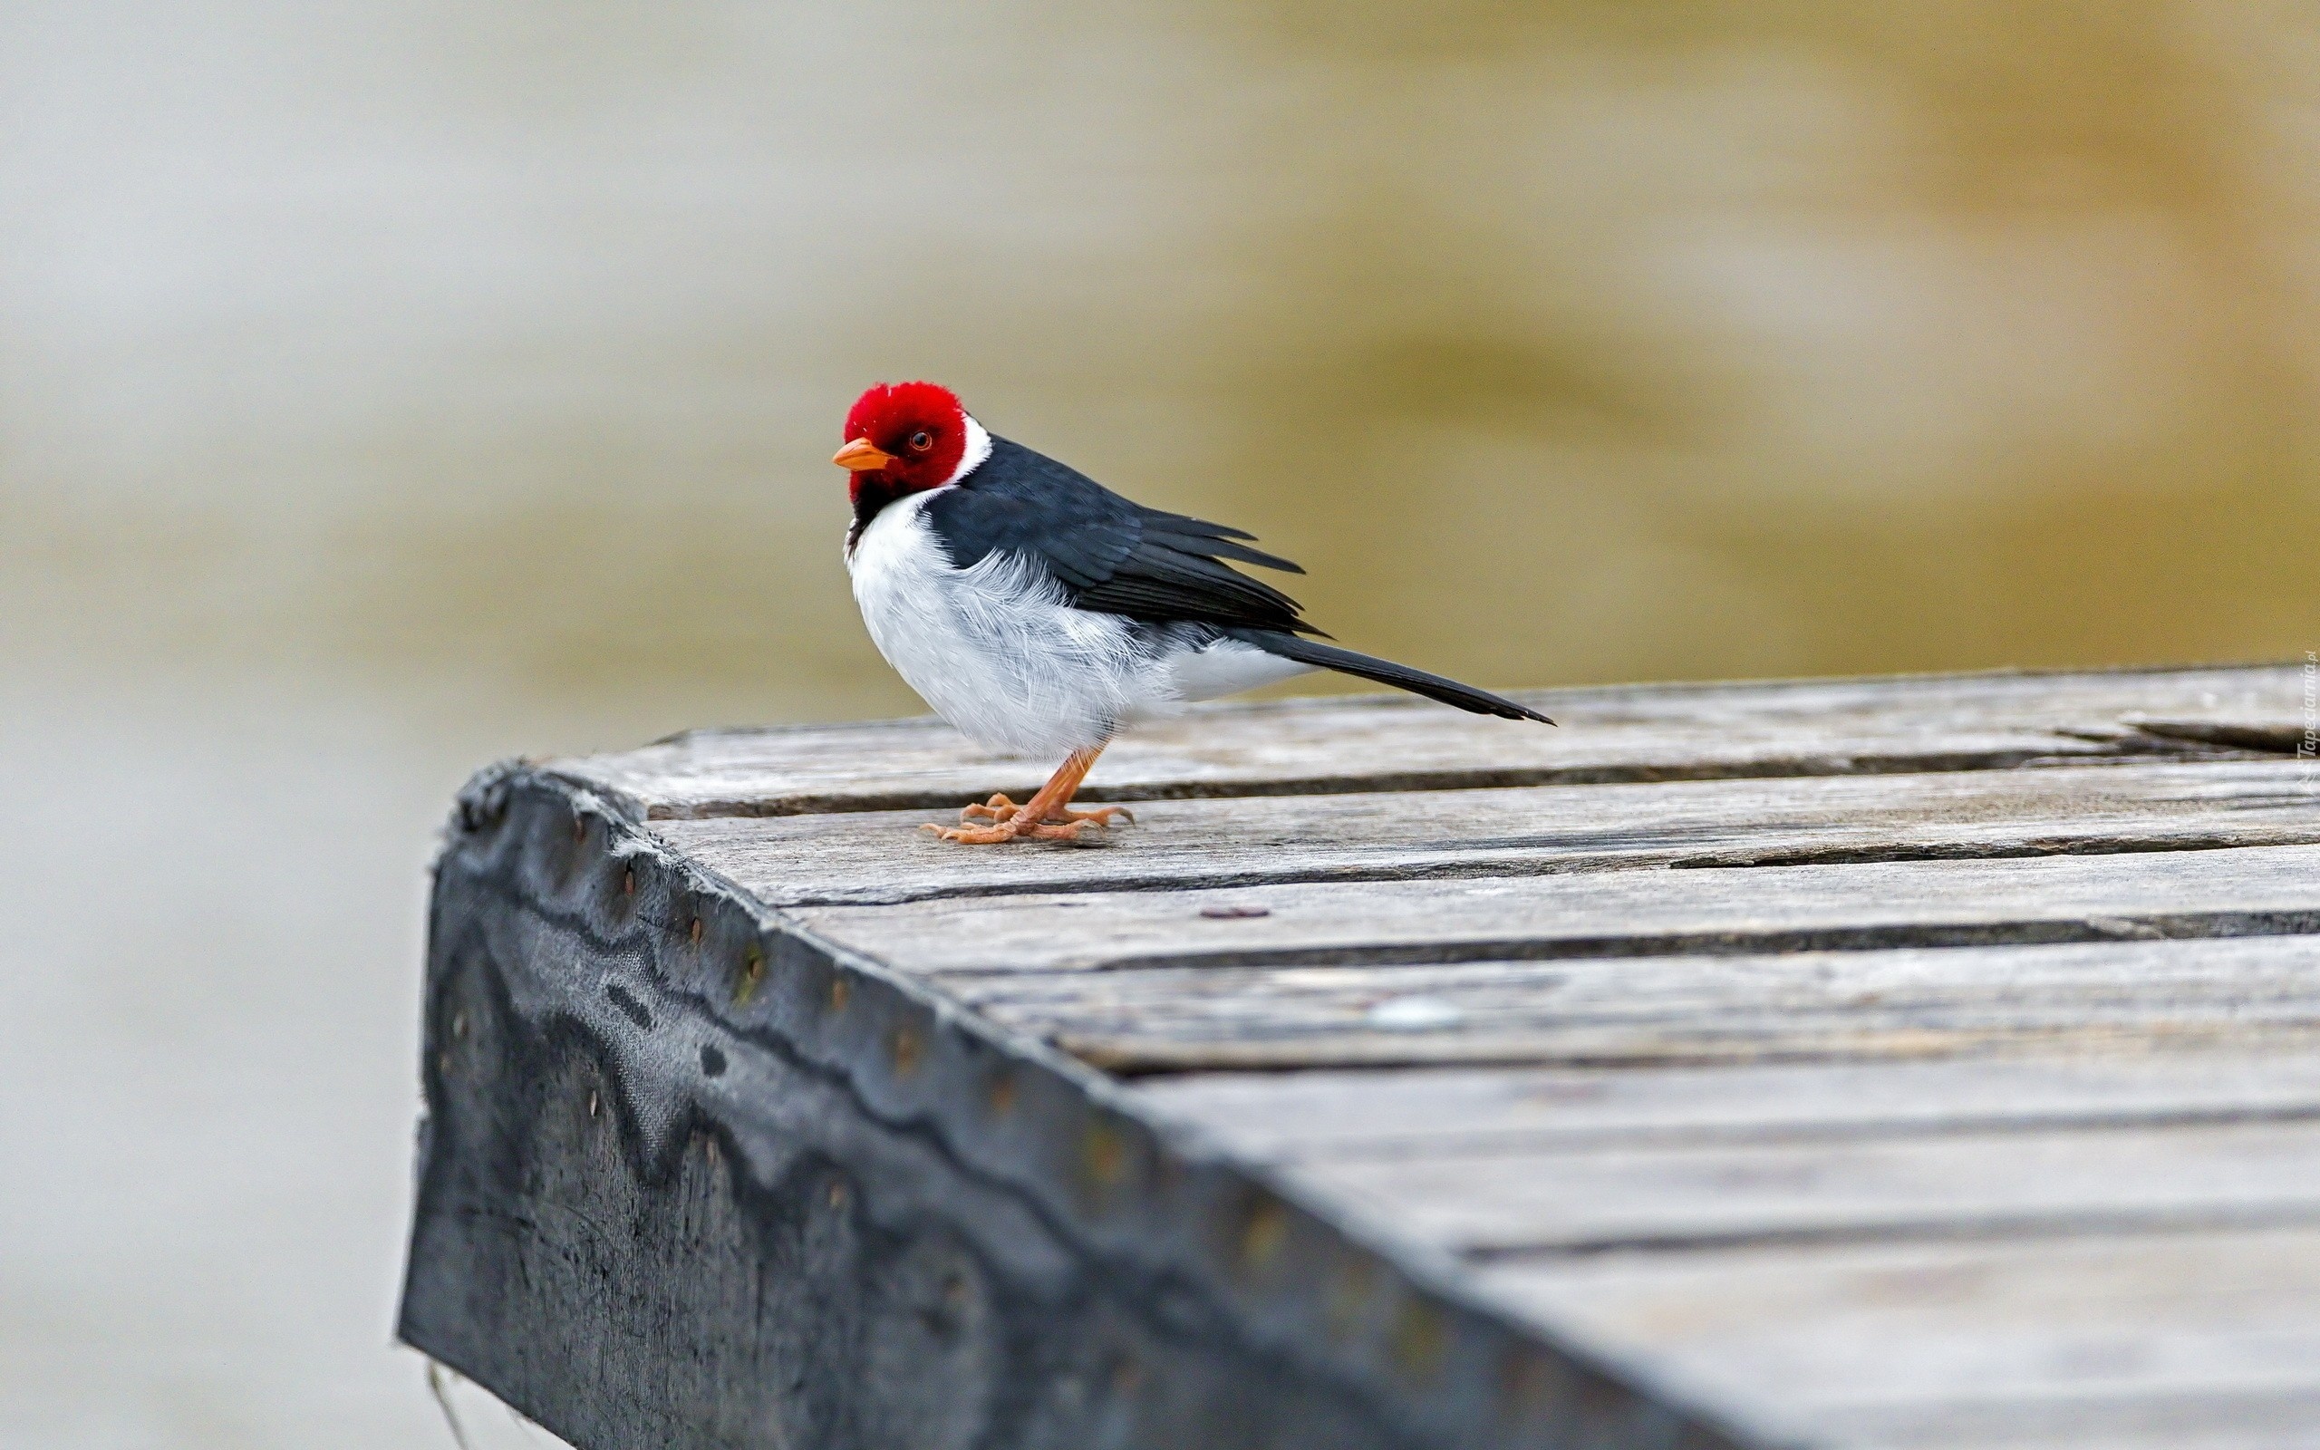
<instances>
[{"instance_id":1,"label":"fluffy white breast and belly of the red-headed bird","mask_svg":"<svg viewBox=\"0 0 2320 1450\"><path fill-rule=\"evenodd\" d=\"M889 503L847 557L879 654L937 715L993 749L1065 756L1179 698L1125 619L1074 610L1021 559L951 568L926 522L937 492Z\"/></svg>"}]
</instances>

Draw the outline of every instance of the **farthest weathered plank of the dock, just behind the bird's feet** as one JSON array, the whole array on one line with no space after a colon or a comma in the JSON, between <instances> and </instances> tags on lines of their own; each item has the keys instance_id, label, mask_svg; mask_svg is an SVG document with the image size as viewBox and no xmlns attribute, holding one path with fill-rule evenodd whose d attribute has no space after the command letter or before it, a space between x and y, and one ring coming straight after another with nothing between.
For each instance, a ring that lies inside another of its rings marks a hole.
<instances>
[{"instance_id":1,"label":"farthest weathered plank of the dock, just behind the bird's feet","mask_svg":"<svg viewBox=\"0 0 2320 1450\"><path fill-rule=\"evenodd\" d=\"M1290 796L1714 775L1991 768L2218 749L2127 715L2288 719L2294 668L1944 675L1531 691L1564 728L1510 728L1408 696L1199 708L1123 735L1090 800ZM1018 798L1051 761L970 747L930 719L689 733L552 770L633 819L926 810Z\"/></svg>"}]
</instances>

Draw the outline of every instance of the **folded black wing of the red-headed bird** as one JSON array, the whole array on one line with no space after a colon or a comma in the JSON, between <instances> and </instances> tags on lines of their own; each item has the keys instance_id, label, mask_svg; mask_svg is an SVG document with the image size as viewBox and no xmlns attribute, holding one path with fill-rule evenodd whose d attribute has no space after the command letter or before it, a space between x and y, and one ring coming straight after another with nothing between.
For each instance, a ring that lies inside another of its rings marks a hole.
<instances>
[{"instance_id":1,"label":"folded black wing of the red-headed bird","mask_svg":"<svg viewBox=\"0 0 2320 1450\"><path fill-rule=\"evenodd\" d=\"M1304 573L1253 550L1241 529L1123 499L1086 473L1007 438L954 490L926 506L956 568L988 554L1046 566L1076 608L1130 619L1320 633L1295 599L1234 571L1227 559ZM1327 638L1327 636L1322 636Z\"/></svg>"}]
</instances>

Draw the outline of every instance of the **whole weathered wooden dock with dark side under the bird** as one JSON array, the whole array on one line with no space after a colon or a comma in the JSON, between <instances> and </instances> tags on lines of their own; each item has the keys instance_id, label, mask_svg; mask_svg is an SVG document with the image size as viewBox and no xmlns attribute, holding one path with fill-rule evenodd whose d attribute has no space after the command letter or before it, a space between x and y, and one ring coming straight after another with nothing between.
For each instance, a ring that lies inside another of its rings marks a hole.
<instances>
[{"instance_id":1,"label":"whole weathered wooden dock with dark side under the bird","mask_svg":"<svg viewBox=\"0 0 2320 1450\"><path fill-rule=\"evenodd\" d=\"M587 1450L2320 1443L2292 666L513 763L401 1336Z\"/></svg>"}]
</instances>

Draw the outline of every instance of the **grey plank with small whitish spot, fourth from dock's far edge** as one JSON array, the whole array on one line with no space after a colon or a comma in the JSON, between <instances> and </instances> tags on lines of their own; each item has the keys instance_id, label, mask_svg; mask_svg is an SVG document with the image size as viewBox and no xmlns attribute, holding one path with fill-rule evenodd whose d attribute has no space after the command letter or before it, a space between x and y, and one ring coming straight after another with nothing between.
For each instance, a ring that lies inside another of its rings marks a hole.
<instances>
[{"instance_id":1,"label":"grey plank with small whitish spot, fourth from dock's far edge","mask_svg":"<svg viewBox=\"0 0 2320 1450\"><path fill-rule=\"evenodd\" d=\"M2320 935L944 981L1128 1074L2320 1044Z\"/></svg>"}]
</instances>

